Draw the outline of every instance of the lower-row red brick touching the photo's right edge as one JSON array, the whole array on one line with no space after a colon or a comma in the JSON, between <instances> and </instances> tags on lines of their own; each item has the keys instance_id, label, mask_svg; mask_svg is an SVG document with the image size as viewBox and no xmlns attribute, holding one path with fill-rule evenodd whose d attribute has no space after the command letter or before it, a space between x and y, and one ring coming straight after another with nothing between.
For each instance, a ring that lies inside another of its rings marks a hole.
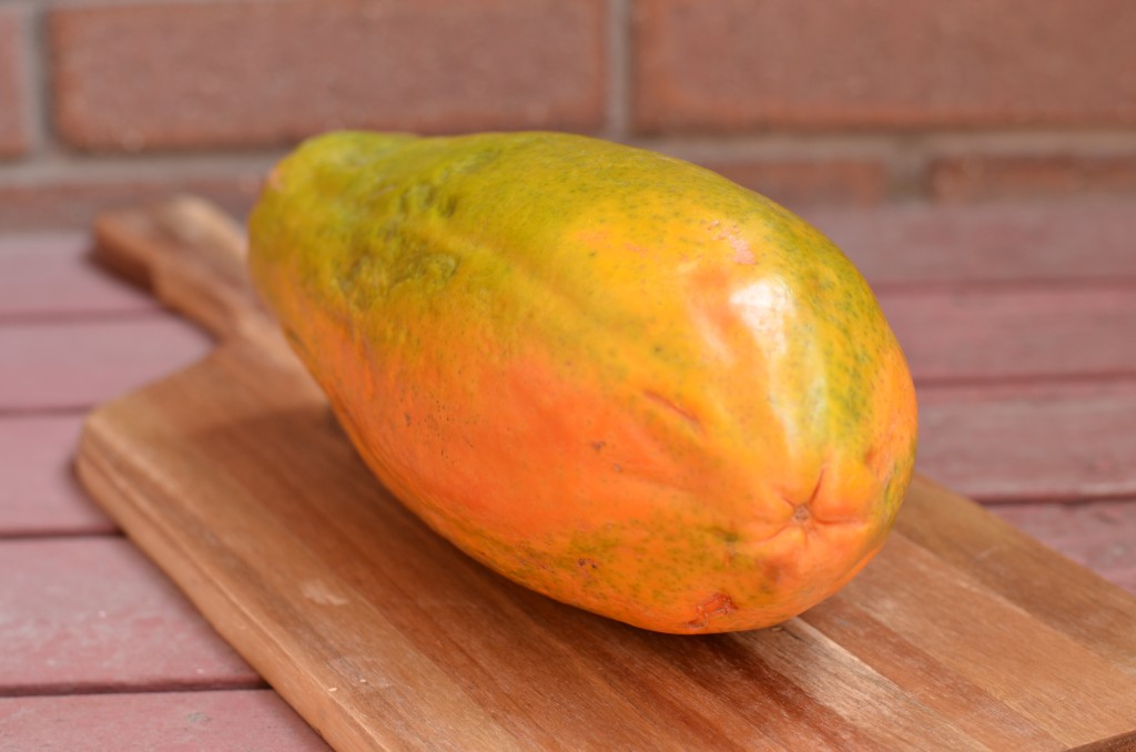
<instances>
[{"instance_id":1,"label":"lower-row red brick touching the photo's right edge","mask_svg":"<svg viewBox=\"0 0 1136 752\"><path fill-rule=\"evenodd\" d=\"M944 157L930 166L939 201L1136 193L1136 156Z\"/></svg>"}]
</instances>

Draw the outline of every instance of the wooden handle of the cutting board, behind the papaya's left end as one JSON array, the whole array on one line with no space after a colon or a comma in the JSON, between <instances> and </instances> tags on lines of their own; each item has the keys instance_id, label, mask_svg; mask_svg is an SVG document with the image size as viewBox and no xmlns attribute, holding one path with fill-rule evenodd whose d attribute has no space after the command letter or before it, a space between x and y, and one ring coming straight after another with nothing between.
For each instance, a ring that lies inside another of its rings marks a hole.
<instances>
[{"instance_id":1,"label":"wooden handle of the cutting board, behind the papaya's left end","mask_svg":"<svg viewBox=\"0 0 1136 752\"><path fill-rule=\"evenodd\" d=\"M107 212L95 219L94 236L97 262L148 287L219 340L268 318L249 282L243 229L208 201L178 197Z\"/></svg>"}]
</instances>

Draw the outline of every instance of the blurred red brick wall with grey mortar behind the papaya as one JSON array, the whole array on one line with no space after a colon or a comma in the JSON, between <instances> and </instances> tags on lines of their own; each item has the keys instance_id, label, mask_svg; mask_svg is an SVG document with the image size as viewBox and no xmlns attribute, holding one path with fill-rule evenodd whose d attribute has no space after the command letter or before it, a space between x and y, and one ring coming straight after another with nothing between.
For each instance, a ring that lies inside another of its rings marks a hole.
<instances>
[{"instance_id":1,"label":"blurred red brick wall with grey mortar behind the papaya","mask_svg":"<svg viewBox=\"0 0 1136 752\"><path fill-rule=\"evenodd\" d=\"M307 134L558 128L791 207L1136 195L1131 0L0 0L0 229Z\"/></svg>"}]
</instances>

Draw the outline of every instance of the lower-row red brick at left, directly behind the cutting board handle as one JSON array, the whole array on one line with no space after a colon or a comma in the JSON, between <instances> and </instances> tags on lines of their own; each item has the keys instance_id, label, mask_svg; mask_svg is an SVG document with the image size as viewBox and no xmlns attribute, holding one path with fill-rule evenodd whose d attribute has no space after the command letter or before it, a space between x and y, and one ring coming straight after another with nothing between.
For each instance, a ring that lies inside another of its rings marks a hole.
<instances>
[{"instance_id":1,"label":"lower-row red brick at left, directly behind the cutting board handle","mask_svg":"<svg viewBox=\"0 0 1136 752\"><path fill-rule=\"evenodd\" d=\"M173 170L172 170L173 172ZM85 229L100 211L154 203L178 193L209 199L234 216L244 216L260 189L253 170L200 177L73 177L37 183L0 183L0 227L6 231Z\"/></svg>"}]
</instances>

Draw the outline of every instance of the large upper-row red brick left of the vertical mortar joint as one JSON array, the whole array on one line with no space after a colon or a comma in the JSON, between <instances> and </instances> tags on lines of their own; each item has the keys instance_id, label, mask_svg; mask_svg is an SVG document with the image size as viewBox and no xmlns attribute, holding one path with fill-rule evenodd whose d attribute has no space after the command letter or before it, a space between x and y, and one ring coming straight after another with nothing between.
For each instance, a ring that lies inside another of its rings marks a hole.
<instances>
[{"instance_id":1,"label":"large upper-row red brick left of the vertical mortar joint","mask_svg":"<svg viewBox=\"0 0 1136 752\"><path fill-rule=\"evenodd\" d=\"M281 144L603 119L602 0L279 0L51 14L56 111L87 150Z\"/></svg>"}]
</instances>

